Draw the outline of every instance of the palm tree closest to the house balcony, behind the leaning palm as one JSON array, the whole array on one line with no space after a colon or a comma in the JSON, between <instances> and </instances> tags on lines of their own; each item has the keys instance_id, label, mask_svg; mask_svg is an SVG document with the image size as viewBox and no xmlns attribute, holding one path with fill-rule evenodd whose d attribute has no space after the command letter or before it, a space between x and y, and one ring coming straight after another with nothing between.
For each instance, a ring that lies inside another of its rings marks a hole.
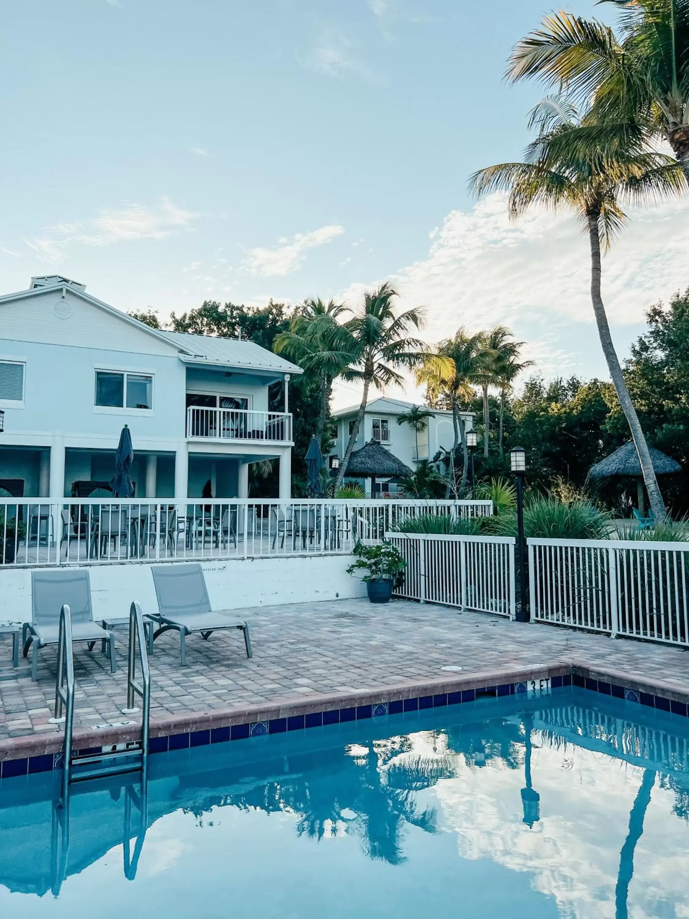
<instances>
[{"instance_id":1,"label":"palm tree closest to the house balcony, behind the leaning palm","mask_svg":"<svg viewBox=\"0 0 689 919\"><path fill-rule=\"evenodd\" d=\"M276 335L273 350L277 354L287 354L299 367L317 374L321 387L321 405L316 421L316 437L325 448L323 434L328 417L330 400L333 393L333 380L348 366L351 355L346 351L333 349L334 323L346 310L346 307L334 301L323 303L308 299L295 313L289 331Z\"/></svg>"}]
</instances>

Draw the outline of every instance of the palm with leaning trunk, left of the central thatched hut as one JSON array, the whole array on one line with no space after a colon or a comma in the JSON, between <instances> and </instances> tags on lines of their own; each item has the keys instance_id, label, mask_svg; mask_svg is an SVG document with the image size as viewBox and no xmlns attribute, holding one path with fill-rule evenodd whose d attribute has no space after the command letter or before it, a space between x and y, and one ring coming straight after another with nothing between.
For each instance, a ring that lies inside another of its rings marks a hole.
<instances>
[{"instance_id":1,"label":"palm with leaning trunk, left of the central thatched hut","mask_svg":"<svg viewBox=\"0 0 689 919\"><path fill-rule=\"evenodd\" d=\"M342 376L347 380L361 380L364 384L361 404L337 474L335 491L344 480L347 463L364 420L371 384L378 390L390 383L402 384L404 380L398 370L416 367L424 360L424 343L408 335L412 328L421 327L421 312L412 309L396 314L392 303L395 297L397 293L387 281L378 289L367 290L364 302L352 319L339 326L346 339L343 341L342 335L334 339L336 351L341 355L349 354Z\"/></svg>"}]
</instances>

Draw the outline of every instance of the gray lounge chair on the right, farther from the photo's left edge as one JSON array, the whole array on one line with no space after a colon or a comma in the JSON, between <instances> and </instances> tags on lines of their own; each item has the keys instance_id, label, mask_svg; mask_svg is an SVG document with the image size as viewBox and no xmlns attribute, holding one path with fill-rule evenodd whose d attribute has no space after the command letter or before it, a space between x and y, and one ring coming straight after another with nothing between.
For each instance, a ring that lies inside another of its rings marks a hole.
<instances>
[{"instance_id":1,"label":"gray lounge chair on the right, farther from the photo's left edge","mask_svg":"<svg viewBox=\"0 0 689 919\"><path fill-rule=\"evenodd\" d=\"M241 629L246 656L252 656L249 627L244 620L226 610L211 611L206 580L198 563L152 565L151 570L159 611L147 616L161 624L153 633L153 641L170 629L177 630L182 666L186 664L185 638L192 632L200 632L202 638L208 639L219 629Z\"/></svg>"}]
</instances>

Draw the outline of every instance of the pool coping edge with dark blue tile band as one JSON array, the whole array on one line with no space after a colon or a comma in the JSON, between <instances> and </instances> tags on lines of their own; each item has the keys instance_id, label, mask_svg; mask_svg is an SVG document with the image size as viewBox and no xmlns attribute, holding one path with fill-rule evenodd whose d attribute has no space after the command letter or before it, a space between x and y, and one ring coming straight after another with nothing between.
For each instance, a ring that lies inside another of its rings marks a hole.
<instances>
[{"instance_id":1,"label":"pool coping edge with dark blue tile band","mask_svg":"<svg viewBox=\"0 0 689 919\"><path fill-rule=\"evenodd\" d=\"M581 686L603 695L689 717L689 686L627 675L582 659L558 659L510 669L405 681L360 692L320 694L310 698L275 699L270 703L217 709L151 721L149 751L188 749L324 724L344 723L402 711L441 708L480 698L503 698L526 692L532 680L550 679L553 687ZM28 734L0 741L0 778L49 772L62 766L62 732ZM141 722L73 733L78 753L100 752L116 743L141 739ZM95 743L96 742L96 743Z\"/></svg>"}]
</instances>

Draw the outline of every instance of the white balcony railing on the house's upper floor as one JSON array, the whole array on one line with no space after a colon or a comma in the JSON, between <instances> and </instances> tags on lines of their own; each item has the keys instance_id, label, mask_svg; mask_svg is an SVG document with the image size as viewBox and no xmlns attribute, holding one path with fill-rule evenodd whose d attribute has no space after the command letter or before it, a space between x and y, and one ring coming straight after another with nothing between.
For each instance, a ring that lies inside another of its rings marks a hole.
<instances>
[{"instance_id":1,"label":"white balcony railing on the house's upper floor","mask_svg":"<svg viewBox=\"0 0 689 919\"><path fill-rule=\"evenodd\" d=\"M186 437L288 444L292 442L292 416L285 412L190 405L186 409Z\"/></svg>"}]
</instances>

